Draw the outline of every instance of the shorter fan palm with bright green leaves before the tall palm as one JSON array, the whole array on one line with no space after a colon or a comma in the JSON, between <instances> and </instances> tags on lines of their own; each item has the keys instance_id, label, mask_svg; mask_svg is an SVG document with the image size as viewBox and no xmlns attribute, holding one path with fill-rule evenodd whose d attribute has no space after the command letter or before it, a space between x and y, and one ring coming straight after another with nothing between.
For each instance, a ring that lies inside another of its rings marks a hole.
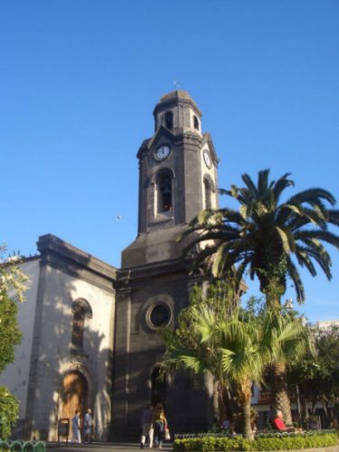
<instances>
[{"instance_id":1,"label":"shorter fan palm with bright green leaves before the tall palm","mask_svg":"<svg viewBox=\"0 0 339 452\"><path fill-rule=\"evenodd\" d=\"M174 343L167 346L165 365L175 363L176 367L195 373L216 372L219 380L231 383L242 411L243 434L253 438L252 385L262 383L266 366L281 359L288 350L293 349L296 356L304 353L306 343L301 340L301 322L277 315L277 311L254 316L240 308L236 308L231 317L220 320L212 306L206 305L193 306L191 315L196 344L186 348L175 347Z\"/></svg>"}]
</instances>

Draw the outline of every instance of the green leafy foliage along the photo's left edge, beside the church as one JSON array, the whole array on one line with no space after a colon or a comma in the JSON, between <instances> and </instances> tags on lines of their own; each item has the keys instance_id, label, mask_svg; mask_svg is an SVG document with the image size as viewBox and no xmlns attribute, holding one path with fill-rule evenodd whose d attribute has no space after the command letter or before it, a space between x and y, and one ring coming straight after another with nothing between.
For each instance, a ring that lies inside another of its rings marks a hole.
<instances>
[{"instance_id":1,"label":"green leafy foliage along the photo's left edge, beside the church","mask_svg":"<svg viewBox=\"0 0 339 452\"><path fill-rule=\"evenodd\" d=\"M24 301L27 277L17 264L18 259L5 257L5 247L0 247L0 372L14 361L14 347L22 338L16 318L17 302ZM0 438L8 438L18 414L18 400L0 386Z\"/></svg>"}]
</instances>

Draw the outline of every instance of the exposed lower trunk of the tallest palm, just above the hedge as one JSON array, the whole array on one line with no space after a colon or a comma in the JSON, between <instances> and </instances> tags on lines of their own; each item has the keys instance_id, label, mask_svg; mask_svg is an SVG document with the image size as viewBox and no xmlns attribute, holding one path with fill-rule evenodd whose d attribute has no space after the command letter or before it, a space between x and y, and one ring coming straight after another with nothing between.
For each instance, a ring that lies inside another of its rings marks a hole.
<instances>
[{"instance_id":1,"label":"exposed lower trunk of the tallest palm, just above the hedge","mask_svg":"<svg viewBox=\"0 0 339 452\"><path fill-rule=\"evenodd\" d=\"M287 389L286 364L282 362L275 363L272 381L273 407L275 410L282 411L287 425L292 425L291 404Z\"/></svg>"}]
</instances>

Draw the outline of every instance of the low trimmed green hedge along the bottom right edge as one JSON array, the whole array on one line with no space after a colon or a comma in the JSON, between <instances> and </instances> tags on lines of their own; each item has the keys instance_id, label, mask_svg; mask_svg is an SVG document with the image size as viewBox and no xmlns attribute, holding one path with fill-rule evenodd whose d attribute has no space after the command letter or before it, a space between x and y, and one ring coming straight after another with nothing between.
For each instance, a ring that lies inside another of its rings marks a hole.
<instances>
[{"instance_id":1,"label":"low trimmed green hedge along the bottom right edge","mask_svg":"<svg viewBox=\"0 0 339 452\"><path fill-rule=\"evenodd\" d=\"M242 437L200 436L175 438L174 450L228 451L228 450L292 450L311 447L330 447L338 444L336 433L306 432L305 434L259 435L250 441Z\"/></svg>"}]
</instances>

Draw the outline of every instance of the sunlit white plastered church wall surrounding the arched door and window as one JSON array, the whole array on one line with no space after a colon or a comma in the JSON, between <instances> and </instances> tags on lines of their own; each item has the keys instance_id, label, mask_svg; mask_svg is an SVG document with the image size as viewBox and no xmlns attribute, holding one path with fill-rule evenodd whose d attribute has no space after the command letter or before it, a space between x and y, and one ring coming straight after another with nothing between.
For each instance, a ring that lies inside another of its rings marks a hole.
<instances>
[{"instance_id":1,"label":"sunlit white plastered church wall surrounding the arched door and window","mask_svg":"<svg viewBox=\"0 0 339 452\"><path fill-rule=\"evenodd\" d=\"M72 303L85 299L92 318L85 319L83 351L71 353ZM39 363L34 394L36 436L57 438L63 377L82 372L89 382L89 405L94 409L97 438L104 440L110 424L110 365L113 353L115 295L87 281L47 268L42 308Z\"/></svg>"}]
</instances>

